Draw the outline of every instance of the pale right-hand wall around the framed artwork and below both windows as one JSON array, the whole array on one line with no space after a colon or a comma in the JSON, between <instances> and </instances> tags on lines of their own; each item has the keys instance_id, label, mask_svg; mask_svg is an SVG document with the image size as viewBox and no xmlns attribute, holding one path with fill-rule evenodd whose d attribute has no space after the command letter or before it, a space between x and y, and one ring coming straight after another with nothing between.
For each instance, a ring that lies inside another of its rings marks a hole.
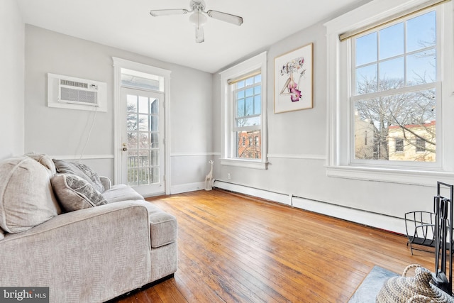
<instances>
[{"instance_id":1,"label":"pale right-hand wall around the framed artwork and below both windows","mask_svg":"<svg viewBox=\"0 0 454 303\"><path fill-rule=\"evenodd\" d=\"M314 108L274 114L274 58L308 43L314 43ZM396 218L403 218L406 211L431 211L436 184L434 187L420 187L326 176L326 49L326 28L322 23L285 38L268 49L268 169L221 166L216 161L215 177L223 181L219 182L223 187L256 195L262 192L262 197L278 202L293 203L311 211L403 232L404 224ZM221 101L219 82L220 78L216 75L214 89L218 92L215 94L218 104ZM214 143L216 150L220 150L221 128L218 121L221 120L221 111L218 105L215 109L219 119L214 123L218 131ZM228 173L231 180L227 180ZM275 193L280 194L280 198L275 198ZM302 199L293 198L290 202L289 195Z\"/></svg>"}]
</instances>

